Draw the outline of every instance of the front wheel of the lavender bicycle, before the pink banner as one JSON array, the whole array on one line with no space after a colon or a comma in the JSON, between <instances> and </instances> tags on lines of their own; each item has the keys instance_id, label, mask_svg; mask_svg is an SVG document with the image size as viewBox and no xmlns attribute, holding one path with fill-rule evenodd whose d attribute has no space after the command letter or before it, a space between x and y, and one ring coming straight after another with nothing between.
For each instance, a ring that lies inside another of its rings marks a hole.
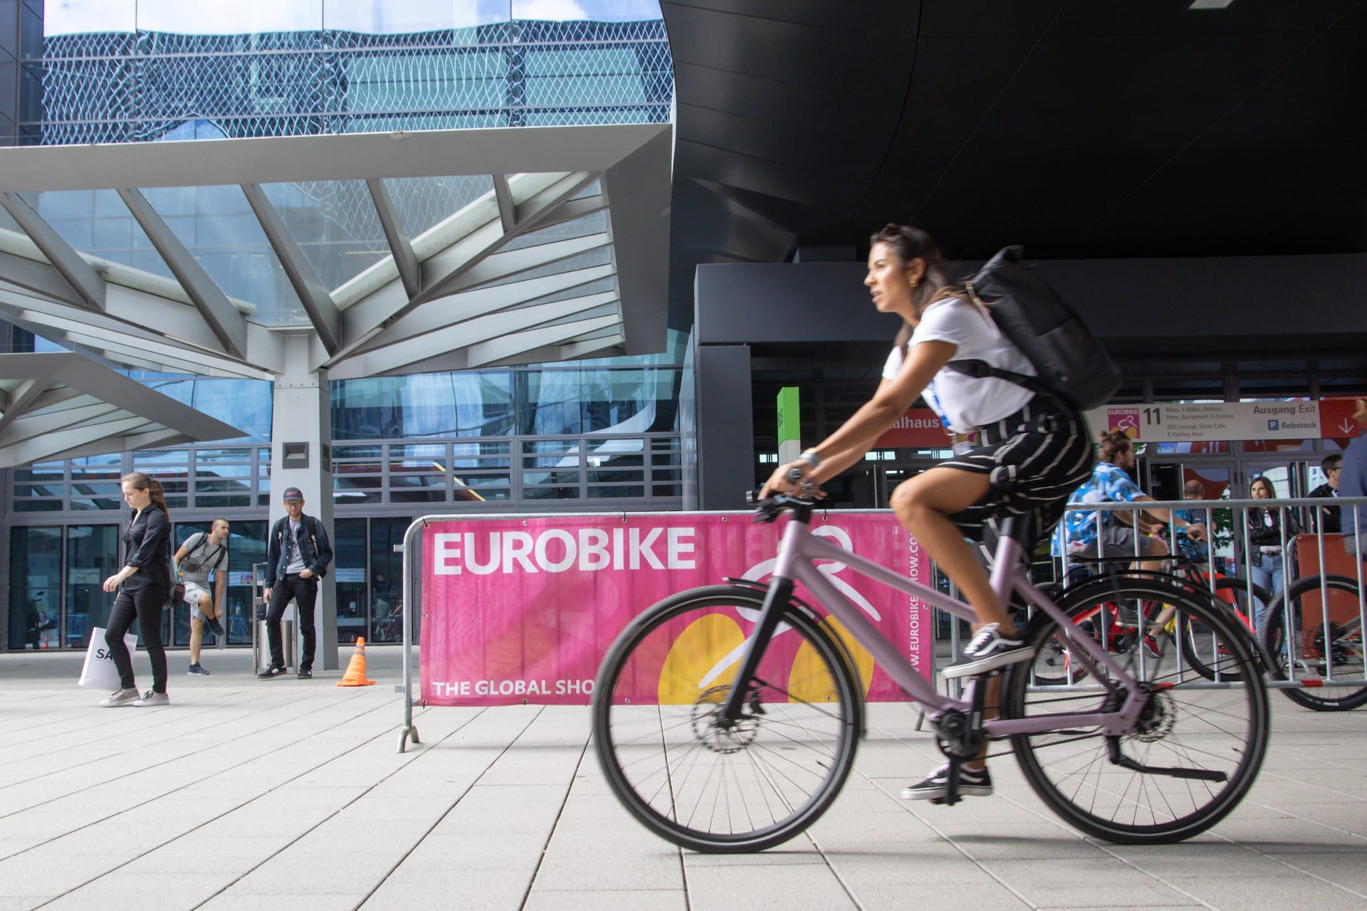
<instances>
[{"instance_id":1,"label":"front wheel of the lavender bicycle, before the pink banner","mask_svg":"<svg viewBox=\"0 0 1367 911\"><path fill-rule=\"evenodd\" d=\"M826 623L793 602L741 721L719 724L734 686L726 671L749 635L735 619L752 624L763 602L763 590L737 585L664 598L617 638L593 688L608 787L645 828L693 851L787 841L830 807L854 765L864 690ZM645 692L655 698L642 705Z\"/></svg>"}]
</instances>

